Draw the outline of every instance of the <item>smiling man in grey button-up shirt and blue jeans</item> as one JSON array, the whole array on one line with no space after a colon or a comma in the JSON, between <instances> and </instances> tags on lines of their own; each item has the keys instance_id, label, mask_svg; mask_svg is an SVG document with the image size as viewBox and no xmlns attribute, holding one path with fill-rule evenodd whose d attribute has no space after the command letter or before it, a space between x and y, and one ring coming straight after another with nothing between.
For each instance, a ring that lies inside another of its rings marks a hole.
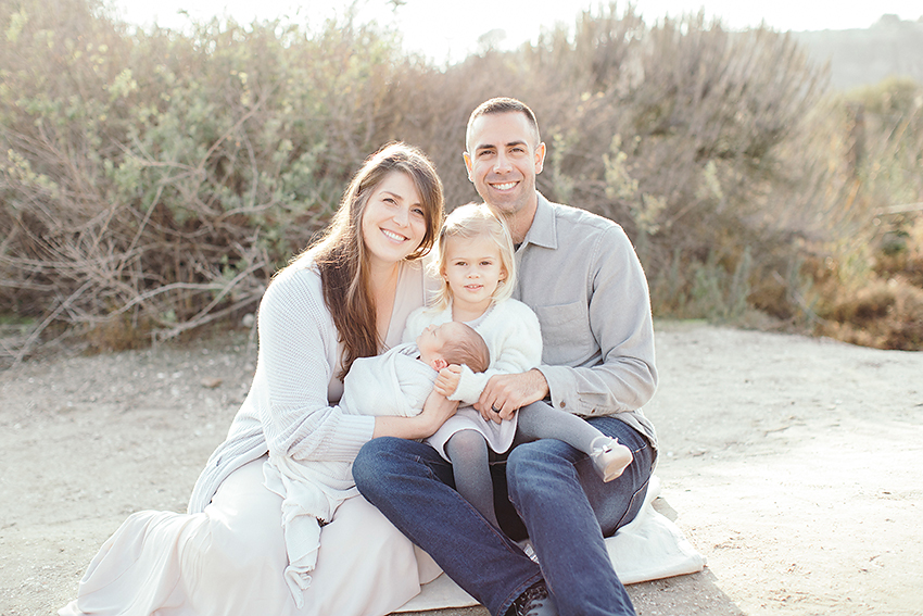
<instances>
[{"instance_id":1,"label":"smiling man in grey button-up shirt and blue jeans","mask_svg":"<svg viewBox=\"0 0 923 616\"><path fill-rule=\"evenodd\" d=\"M551 404L618 438L634 460L603 482L590 458L561 441L508 454L495 477L497 505L513 503L541 568L514 541L517 526L502 518L505 533L497 532L421 443L370 441L354 465L356 485L494 616L634 614L603 538L633 519L656 461L654 428L641 412L657 385L644 272L621 227L538 192L545 146L526 104L481 104L466 149L468 178L518 246L514 297L535 311L544 342L543 365L492 377L476 406L502 420L527 404Z\"/></svg>"}]
</instances>

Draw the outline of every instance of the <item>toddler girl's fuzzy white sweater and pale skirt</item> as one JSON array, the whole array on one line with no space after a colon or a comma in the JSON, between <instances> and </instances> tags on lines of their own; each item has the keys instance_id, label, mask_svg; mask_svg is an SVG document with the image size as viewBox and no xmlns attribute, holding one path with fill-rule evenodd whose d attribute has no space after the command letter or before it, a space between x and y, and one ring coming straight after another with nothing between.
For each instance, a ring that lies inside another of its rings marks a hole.
<instances>
[{"instance_id":1,"label":"toddler girl's fuzzy white sweater and pale skirt","mask_svg":"<svg viewBox=\"0 0 923 616\"><path fill-rule=\"evenodd\" d=\"M442 325L452 320L452 305L443 310L419 309L410 314L404 330L404 341L415 340L430 325ZM478 401L488 380L498 374L524 373L542 361L542 331L539 318L532 309L517 300L504 300L468 325L481 335L491 352L491 365L483 373L472 373L463 366L462 379L451 400L462 406L437 432L427 439L435 450L448 460L445 443L460 430L477 430L488 441L488 447L503 453L513 444L516 436L516 416L500 424L485 420L471 404Z\"/></svg>"}]
</instances>

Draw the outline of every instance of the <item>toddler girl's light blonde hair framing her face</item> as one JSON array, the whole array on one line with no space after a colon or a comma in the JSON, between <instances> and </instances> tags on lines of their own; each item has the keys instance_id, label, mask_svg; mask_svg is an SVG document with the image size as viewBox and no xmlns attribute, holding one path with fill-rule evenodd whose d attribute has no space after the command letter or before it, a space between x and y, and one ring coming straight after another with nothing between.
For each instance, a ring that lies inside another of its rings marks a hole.
<instances>
[{"instance_id":1,"label":"toddler girl's light blonde hair framing her face","mask_svg":"<svg viewBox=\"0 0 923 616\"><path fill-rule=\"evenodd\" d=\"M513 297L516 287L516 257L514 256L513 237L506 223L493 213L485 203L466 203L459 205L445 218L437 241L437 262L439 278L442 285L433 298L434 305L440 310L448 306L452 300L452 289L445 279L445 244L452 238L473 239L486 237L493 240L500 251L500 264L506 273L506 278L497 284L492 294L494 303Z\"/></svg>"}]
</instances>

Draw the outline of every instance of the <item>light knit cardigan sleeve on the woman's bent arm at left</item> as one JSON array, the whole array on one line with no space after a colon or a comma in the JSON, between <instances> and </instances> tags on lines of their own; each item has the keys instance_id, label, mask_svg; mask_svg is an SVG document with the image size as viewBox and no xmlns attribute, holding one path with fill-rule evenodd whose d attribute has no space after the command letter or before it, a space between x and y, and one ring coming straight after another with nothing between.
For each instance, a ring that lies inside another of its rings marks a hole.
<instances>
[{"instance_id":1,"label":"light knit cardigan sleeve on the woman's bent arm at left","mask_svg":"<svg viewBox=\"0 0 923 616\"><path fill-rule=\"evenodd\" d=\"M260 422L269 452L295 460L351 462L371 439L375 418L349 415L327 400L337 331L319 276L296 268L278 276L260 306L260 366L267 394Z\"/></svg>"}]
</instances>

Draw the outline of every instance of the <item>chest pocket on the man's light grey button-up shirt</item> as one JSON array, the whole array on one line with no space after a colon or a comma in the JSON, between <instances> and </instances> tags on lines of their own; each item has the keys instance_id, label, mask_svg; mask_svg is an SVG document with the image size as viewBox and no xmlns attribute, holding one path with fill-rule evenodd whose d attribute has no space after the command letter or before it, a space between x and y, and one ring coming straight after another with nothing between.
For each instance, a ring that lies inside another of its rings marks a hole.
<instances>
[{"instance_id":1,"label":"chest pocket on the man's light grey button-up shirt","mask_svg":"<svg viewBox=\"0 0 923 616\"><path fill-rule=\"evenodd\" d=\"M579 365L594 347L586 304L574 302L554 306L534 306L542 326L542 363Z\"/></svg>"}]
</instances>

